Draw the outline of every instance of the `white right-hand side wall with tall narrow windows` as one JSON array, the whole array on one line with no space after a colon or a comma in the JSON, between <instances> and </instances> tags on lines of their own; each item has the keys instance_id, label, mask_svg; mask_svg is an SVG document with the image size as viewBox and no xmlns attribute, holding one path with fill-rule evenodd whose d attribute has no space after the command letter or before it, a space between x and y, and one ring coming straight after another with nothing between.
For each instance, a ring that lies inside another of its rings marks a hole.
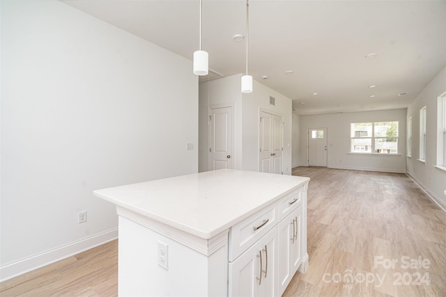
<instances>
[{"instance_id":1,"label":"white right-hand side wall with tall narrow windows","mask_svg":"<svg viewBox=\"0 0 446 297\"><path fill-rule=\"evenodd\" d=\"M446 91L446 67L422 90L408 107L412 117L412 156L407 157L407 173L446 210L446 171L437 165L437 99ZM426 106L426 162L420 158L420 109ZM438 140L440 141L440 140Z\"/></svg>"}]
</instances>

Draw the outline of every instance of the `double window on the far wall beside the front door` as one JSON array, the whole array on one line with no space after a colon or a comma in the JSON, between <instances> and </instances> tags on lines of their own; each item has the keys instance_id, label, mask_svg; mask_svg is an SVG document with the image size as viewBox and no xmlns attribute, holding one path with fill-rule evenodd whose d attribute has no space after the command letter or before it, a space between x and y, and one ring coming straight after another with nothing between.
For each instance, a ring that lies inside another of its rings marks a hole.
<instances>
[{"instance_id":1,"label":"double window on the far wall beside the front door","mask_svg":"<svg viewBox=\"0 0 446 297\"><path fill-rule=\"evenodd\" d=\"M397 154L398 122L357 122L351 124L351 152Z\"/></svg>"}]
</instances>

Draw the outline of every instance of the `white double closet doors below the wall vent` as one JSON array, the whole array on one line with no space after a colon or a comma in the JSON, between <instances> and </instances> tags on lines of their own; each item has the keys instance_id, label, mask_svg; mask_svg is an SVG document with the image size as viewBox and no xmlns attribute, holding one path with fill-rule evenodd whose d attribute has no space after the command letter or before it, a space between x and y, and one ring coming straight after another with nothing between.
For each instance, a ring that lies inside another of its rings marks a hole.
<instances>
[{"instance_id":1,"label":"white double closet doors below the wall vent","mask_svg":"<svg viewBox=\"0 0 446 297\"><path fill-rule=\"evenodd\" d=\"M282 174L282 116L261 111L259 126L259 171Z\"/></svg>"}]
</instances>

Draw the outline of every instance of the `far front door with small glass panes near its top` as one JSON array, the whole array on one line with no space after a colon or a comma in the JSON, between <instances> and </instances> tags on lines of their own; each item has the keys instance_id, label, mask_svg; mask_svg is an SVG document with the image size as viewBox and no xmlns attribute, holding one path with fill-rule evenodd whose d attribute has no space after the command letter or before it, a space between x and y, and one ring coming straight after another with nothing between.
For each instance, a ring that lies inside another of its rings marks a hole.
<instances>
[{"instance_id":1,"label":"far front door with small glass panes near its top","mask_svg":"<svg viewBox=\"0 0 446 297\"><path fill-rule=\"evenodd\" d=\"M308 165L327 167L327 128L308 129Z\"/></svg>"}]
</instances>

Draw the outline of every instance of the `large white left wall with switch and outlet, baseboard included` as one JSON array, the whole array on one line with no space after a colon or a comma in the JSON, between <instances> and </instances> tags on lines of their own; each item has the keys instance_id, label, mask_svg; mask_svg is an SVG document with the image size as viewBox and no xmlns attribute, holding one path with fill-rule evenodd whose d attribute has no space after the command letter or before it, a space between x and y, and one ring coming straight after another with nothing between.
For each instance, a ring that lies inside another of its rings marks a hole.
<instances>
[{"instance_id":1,"label":"large white left wall with switch and outlet, baseboard included","mask_svg":"<svg viewBox=\"0 0 446 297\"><path fill-rule=\"evenodd\" d=\"M93 190L197 172L191 61L59 1L1 1L1 63L1 279L116 237Z\"/></svg>"}]
</instances>

